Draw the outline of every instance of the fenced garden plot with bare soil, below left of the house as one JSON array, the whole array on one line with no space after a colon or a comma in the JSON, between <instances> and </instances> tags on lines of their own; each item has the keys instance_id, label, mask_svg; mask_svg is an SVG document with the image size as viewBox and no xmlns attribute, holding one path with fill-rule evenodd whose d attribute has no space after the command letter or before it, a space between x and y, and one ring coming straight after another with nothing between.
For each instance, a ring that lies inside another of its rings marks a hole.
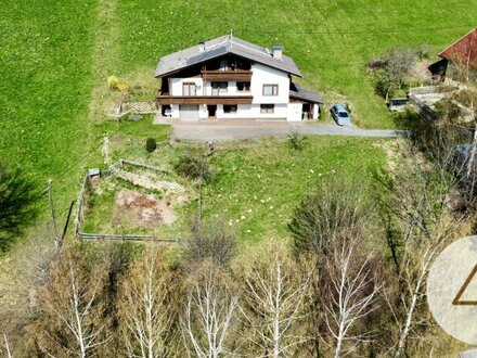
<instances>
[{"instance_id":1,"label":"fenced garden plot with bare soil, below left of the house","mask_svg":"<svg viewBox=\"0 0 477 358\"><path fill-rule=\"evenodd\" d=\"M151 235L166 239L190 191L173 176L131 165L112 167L101 179L89 179L79 231L106 235ZM169 238L167 238L169 239Z\"/></svg>"}]
</instances>

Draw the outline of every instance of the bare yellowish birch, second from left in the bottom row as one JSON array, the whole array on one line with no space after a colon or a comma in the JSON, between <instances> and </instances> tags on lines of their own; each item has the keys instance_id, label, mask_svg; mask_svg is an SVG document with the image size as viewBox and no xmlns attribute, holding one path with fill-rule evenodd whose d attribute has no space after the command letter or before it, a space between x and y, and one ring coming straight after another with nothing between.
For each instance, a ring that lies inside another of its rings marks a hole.
<instances>
[{"instance_id":1,"label":"bare yellowish birch, second from left in the bottom row","mask_svg":"<svg viewBox=\"0 0 477 358\"><path fill-rule=\"evenodd\" d=\"M129 357L170 357L176 317L172 293L178 290L169 270L169 252L146 247L126 278L119 304L123 335Z\"/></svg>"}]
</instances>

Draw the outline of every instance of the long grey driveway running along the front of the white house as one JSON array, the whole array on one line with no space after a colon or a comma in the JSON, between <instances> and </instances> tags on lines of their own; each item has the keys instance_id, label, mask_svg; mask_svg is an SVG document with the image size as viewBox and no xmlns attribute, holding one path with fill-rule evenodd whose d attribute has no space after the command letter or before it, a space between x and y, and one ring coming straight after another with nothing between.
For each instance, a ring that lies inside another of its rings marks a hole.
<instances>
[{"instance_id":1,"label":"long grey driveway running along the front of the white house","mask_svg":"<svg viewBox=\"0 0 477 358\"><path fill-rule=\"evenodd\" d=\"M402 130L361 129L339 127L334 124L309 125L286 122L181 122L156 119L156 124L172 125L172 139L182 141L230 141L265 137L287 136L293 132L312 136L354 136L397 138L405 136Z\"/></svg>"}]
</instances>

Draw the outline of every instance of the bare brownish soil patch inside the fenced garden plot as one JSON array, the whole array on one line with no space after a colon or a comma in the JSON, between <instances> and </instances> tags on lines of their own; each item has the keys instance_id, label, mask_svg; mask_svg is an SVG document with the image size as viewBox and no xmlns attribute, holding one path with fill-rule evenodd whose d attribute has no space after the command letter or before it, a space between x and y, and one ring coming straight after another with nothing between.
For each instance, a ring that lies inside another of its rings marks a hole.
<instances>
[{"instance_id":1,"label":"bare brownish soil patch inside the fenced garden plot","mask_svg":"<svg viewBox=\"0 0 477 358\"><path fill-rule=\"evenodd\" d=\"M121 190L116 195L113 223L130 226L169 225L177 220L173 202L132 190ZM126 221L126 222L125 222Z\"/></svg>"}]
</instances>

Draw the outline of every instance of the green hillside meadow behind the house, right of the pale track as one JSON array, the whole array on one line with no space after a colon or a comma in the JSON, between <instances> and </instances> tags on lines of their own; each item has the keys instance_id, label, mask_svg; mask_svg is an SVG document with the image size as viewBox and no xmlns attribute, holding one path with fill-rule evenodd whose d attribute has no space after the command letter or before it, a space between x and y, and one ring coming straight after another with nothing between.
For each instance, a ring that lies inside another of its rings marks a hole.
<instances>
[{"instance_id":1,"label":"green hillside meadow behind the house, right of the pale track","mask_svg":"<svg viewBox=\"0 0 477 358\"><path fill-rule=\"evenodd\" d=\"M117 8L121 74L153 73L157 57L228 34L285 46L327 104L346 101L365 128L394 120L366 76L369 60L391 47L429 43L437 53L475 27L477 1L123 1Z\"/></svg>"}]
</instances>

